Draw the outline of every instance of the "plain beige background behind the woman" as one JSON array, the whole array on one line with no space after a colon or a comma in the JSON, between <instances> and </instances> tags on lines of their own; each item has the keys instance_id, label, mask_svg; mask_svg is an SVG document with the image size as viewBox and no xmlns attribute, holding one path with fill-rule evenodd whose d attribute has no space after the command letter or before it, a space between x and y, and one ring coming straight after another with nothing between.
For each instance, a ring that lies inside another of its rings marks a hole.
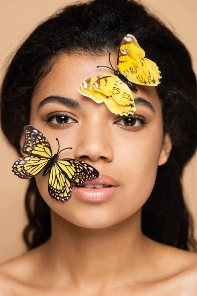
<instances>
[{"instance_id":1,"label":"plain beige background behind the woman","mask_svg":"<svg viewBox=\"0 0 197 296\"><path fill-rule=\"evenodd\" d=\"M73 1L66 0L0 0L0 81L8 55L29 35L36 24L57 8ZM187 45L197 73L197 1L144 0L154 13ZM26 223L24 194L28 181L16 178L11 166L19 155L9 146L0 131L0 262L26 251L22 229ZM197 156L184 174L185 200L194 215L197 237Z\"/></svg>"}]
</instances>

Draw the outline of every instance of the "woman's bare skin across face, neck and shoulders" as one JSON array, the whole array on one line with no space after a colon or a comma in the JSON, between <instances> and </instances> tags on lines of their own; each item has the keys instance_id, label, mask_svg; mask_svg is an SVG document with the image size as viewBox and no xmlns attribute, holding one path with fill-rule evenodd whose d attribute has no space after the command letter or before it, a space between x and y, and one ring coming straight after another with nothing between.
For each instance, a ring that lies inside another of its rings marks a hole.
<instances>
[{"instance_id":1,"label":"woman's bare skin across face, neck and shoulders","mask_svg":"<svg viewBox=\"0 0 197 296\"><path fill-rule=\"evenodd\" d=\"M116 65L115 55L111 62ZM141 231L142 206L151 194L158 166L167 161L171 150L171 140L163 134L156 89L136 85L134 99L143 97L155 112L136 104L134 116L145 117L148 123L133 119L134 126L126 129L125 116L78 92L87 78L113 74L97 65L108 66L107 53L59 57L36 87L30 124L46 136L53 153L57 152L58 138L61 149L73 148L61 152L60 158L93 165L100 174L116 179L119 191L106 202L84 202L73 193L62 203L50 197L48 175L36 176L38 189L51 208L52 235L40 247L1 265L5 295L11 295L12 289L20 295L27 295L27 291L29 295L180 295L172 293L183 293L183 279L187 292L189 284L194 291L197 288L196 254L155 242ZM51 95L73 99L82 108L75 110L56 102L38 111L40 102ZM52 121L44 120L58 111L70 116L68 123L57 124L55 114ZM23 144L22 135L21 148ZM190 295L195 295L192 290Z\"/></svg>"}]
</instances>

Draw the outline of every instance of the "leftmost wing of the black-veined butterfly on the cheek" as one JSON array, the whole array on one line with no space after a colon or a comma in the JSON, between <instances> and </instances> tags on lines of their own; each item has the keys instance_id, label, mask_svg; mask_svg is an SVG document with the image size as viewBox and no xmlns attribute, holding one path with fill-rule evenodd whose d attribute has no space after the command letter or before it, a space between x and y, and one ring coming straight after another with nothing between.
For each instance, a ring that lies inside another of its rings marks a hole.
<instances>
[{"instance_id":1,"label":"leftmost wing of the black-veined butterfly on the cheek","mask_svg":"<svg viewBox=\"0 0 197 296\"><path fill-rule=\"evenodd\" d=\"M21 179L29 179L39 174L47 164L47 159L24 156L14 162L12 172Z\"/></svg>"}]
</instances>

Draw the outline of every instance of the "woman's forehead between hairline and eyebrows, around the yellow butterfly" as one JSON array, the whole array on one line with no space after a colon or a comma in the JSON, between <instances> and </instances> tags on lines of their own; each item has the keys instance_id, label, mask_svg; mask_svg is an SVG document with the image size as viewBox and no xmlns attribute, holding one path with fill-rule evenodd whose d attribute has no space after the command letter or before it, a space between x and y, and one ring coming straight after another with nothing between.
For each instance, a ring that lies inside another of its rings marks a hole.
<instances>
[{"instance_id":1,"label":"woman's forehead between hairline and eyebrows, around the yellow butterfly","mask_svg":"<svg viewBox=\"0 0 197 296\"><path fill-rule=\"evenodd\" d=\"M117 69L117 55L111 54L111 63ZM69 98L87 102L87 98L78 92L79 85L86 79L101 74L114 74L110 67L108 53L94 55L89 53L62 54L53 63L50 72L37 84L33 93L32 104L51 95L66 95ZM155 87L136 85L138 92L132 91L133 97L142 96L157 108L161 106Z\"/></svg>"}]
</instances>

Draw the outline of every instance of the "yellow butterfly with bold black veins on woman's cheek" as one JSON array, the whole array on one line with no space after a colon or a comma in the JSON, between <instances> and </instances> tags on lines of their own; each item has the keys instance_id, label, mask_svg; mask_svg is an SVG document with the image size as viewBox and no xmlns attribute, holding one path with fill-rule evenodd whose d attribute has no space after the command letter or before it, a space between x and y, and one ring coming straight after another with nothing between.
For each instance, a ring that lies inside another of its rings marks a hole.
<instances>
[{"instance_id":1,"label":"yellow butterfly with bold black veins on woman's cheek","mask_svg":"<svg viewBox=\"0 0 197 296\"><path fill-rule=\"evenodd\" d=\"M73 182L81 185L86 180L99 177L99 171L88 163L74 159L60 159L59 154L65 149L60 150L58 139L58 152L52 155L52 150L45 136L35 129L32 125L24 128L25 144L22 151L29 156L24 156L15 161L12 172L22 179L33 178L42 170L42 176L49 173L48 191L52 198L65 201L71 197Z\"/></svg>"}]
</instances>

